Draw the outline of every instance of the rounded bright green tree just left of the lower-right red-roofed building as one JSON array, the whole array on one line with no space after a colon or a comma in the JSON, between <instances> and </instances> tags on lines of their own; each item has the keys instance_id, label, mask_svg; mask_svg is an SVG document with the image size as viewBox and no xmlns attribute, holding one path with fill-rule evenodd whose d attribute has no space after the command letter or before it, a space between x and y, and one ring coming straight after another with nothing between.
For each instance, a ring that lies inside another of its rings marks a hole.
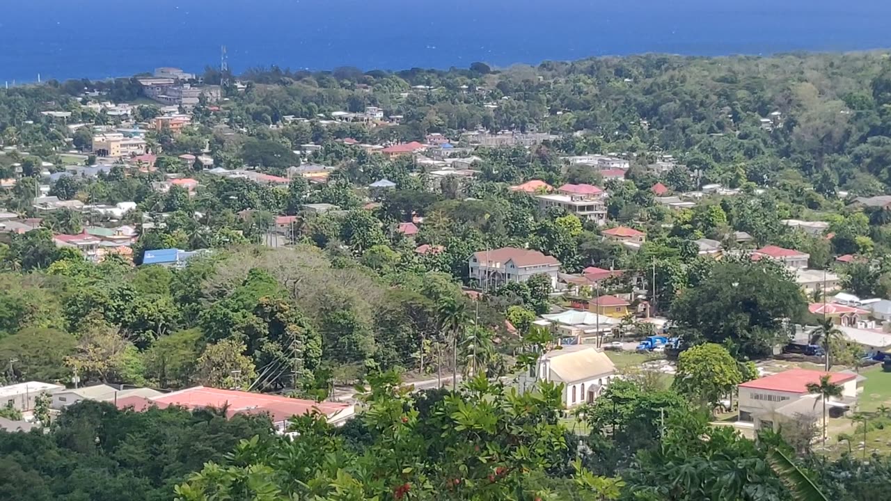
<instances>
[{"instance_id":1,"label":"rounded bright green tree just left of the lower-right red-roofed building","mask_svg":"<svg viewBox=\"0 0 891 501\"><path fill-rule=\"evenodd\" d=\"M740 382L742 374L730 352L723 346L706 343L681 353L672 387L713 411Z\"/></svg>"}]
</instances>

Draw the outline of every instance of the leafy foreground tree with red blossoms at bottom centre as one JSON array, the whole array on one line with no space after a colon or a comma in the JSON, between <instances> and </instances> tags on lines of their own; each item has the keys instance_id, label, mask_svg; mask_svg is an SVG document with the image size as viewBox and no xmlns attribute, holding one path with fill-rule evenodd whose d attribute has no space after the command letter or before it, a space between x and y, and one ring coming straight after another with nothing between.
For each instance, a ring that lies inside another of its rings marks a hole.
<instances>
[{"instance_id":1,"label":"leafy foreground tree with red blossoms at bottom centre","mask_svg":"<svg viewBox=\"0 0 891 501\"><path fill-rule=\"evenodd\" d=\"M318 415L295 418L290 430L300 439L245 441L233 455L244 461L208 464L176 487L176 498L533 500L548 497L540 473L568 463L553 385L519 394L478 377L466 393L430 400L393 374L373 376L370 386L350 435ZM581 499L616 499L624 486L581 464L573 477Z\"/></svg>"}]
</instances>

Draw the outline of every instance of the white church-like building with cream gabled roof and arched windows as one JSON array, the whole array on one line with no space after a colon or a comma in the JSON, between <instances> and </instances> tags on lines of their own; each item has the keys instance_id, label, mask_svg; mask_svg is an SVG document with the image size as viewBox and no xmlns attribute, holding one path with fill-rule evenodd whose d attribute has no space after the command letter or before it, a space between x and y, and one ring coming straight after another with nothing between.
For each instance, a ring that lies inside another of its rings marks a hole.
<instances>
[{"instance_id":1,"label":"white church-like building with cream gabled roof and arched windows","mask_svg":"<svg viewBox=\"0 0 891 501\"><path fill-rule=\"evenodd\" d=\"M567 408L593 403L616 377L616 365L603 351L591 345L564 346L539 357L527 374L519 378L521 391L535 388L539 381L563 384Z\"/></svg>"}]
</instances>

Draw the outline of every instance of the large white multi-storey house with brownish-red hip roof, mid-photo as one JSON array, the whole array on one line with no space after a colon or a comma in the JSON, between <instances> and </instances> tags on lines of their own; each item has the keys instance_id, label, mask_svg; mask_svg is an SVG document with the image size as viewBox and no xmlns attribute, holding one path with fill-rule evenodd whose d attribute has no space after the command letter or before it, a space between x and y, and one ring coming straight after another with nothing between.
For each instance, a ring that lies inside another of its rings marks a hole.
<instances>
[{"instance_id":1,"label":"large white multi-storey house with brownish-red hip roof, mid-photo","mask_svg":"<svg viewBox=\"0 0 891 501\"><path fill-rule=\"evenodd\" d=\"M470 279L486 290L508 282L526 282L534 275L548 275L552 289L557 288L560 261L537 250L503 247L474 252L468 260Z\"/></svg>"}]
</instances>

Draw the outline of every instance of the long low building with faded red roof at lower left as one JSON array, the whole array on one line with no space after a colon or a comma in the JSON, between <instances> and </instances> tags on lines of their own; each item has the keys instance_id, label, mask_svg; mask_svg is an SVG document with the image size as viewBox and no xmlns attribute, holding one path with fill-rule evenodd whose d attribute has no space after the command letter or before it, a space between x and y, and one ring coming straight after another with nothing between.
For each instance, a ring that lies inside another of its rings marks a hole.
<instances>
[{"instance_id":1,"label":"long low building with faded red roof at lower left","mask_svg":"<svg viewBox=\"0 0 891 501\"><path fill-rule=\"evenodd\" d=\"M119 398L117 407L132 407L142 412L150 407L166 408L170 406L200 409L213 407L225 409L226 417L238 414L266 414L272 419L275 430L284 433L293 416L319 413L324 415L328 423L335 426L346 423L356 415L356 406L339 402L315 402L301 398L282 397L266 393L249 391L219 390L205 386L196 386L185 390L163 393L156 397L144 398L132 396Z\"/></svg>"}]
</instances>

